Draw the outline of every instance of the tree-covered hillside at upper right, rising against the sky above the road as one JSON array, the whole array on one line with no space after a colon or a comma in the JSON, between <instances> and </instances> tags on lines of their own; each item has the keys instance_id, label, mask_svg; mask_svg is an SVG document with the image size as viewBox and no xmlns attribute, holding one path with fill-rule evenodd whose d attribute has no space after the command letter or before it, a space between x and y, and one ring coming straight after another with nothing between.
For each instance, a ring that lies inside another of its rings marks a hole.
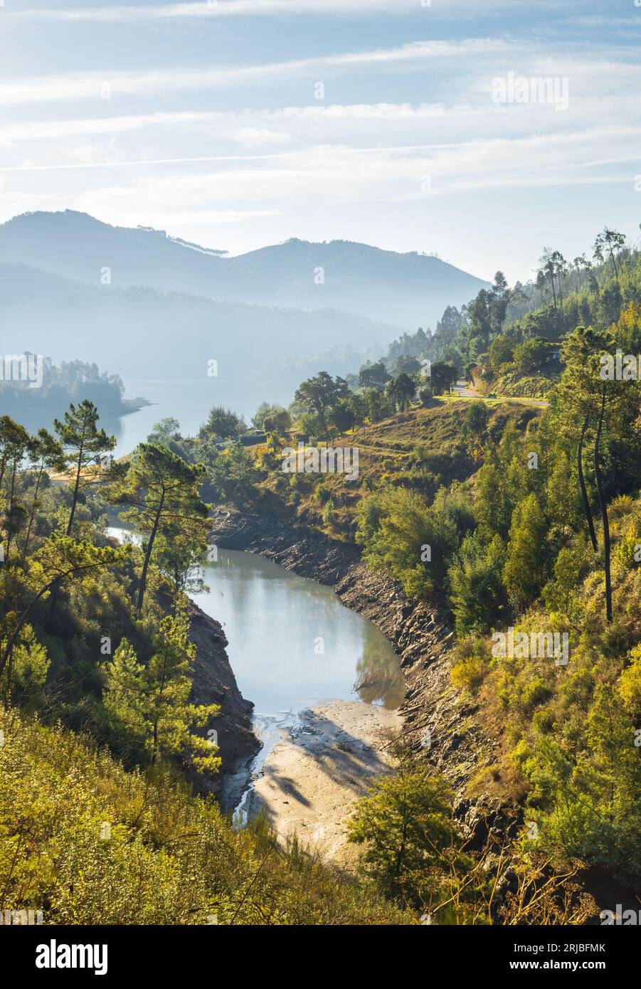
<instances>
[{"instance_id":1,"label":"tree-covered hillside at upper right, rising against the sky above the road","mask_svg":"<svg viewBox=\"0 0 641 989\"><path fill-rule=\"evenodd\" d=\"M499 271L492 288L467 306L449 306L433 333L404 333L384 364L391 374L415 374L426 361L443 362L484 395L542 397L559 379L561 342L569 333L579 325L607 329L639 302L639 251L605 227L592 260L583 253L568 261L546 248L535 278L512 288Z\"/></svg>"}]
</instances>

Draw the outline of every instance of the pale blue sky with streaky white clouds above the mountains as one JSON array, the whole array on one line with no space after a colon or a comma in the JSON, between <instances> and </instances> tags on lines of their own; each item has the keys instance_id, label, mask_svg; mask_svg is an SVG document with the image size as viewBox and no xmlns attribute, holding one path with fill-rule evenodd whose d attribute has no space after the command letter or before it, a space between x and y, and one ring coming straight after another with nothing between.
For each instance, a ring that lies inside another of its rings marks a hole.
<instances>
[{"instance_id":1,"label":"pale blue sky with streaky white clouds above the mountains","mask_svg":"<svg viewBox=\"0 0 641 989\"><path fill-rule=\"evenodd\" d=\"M638 242L640 40L641 0L0 0L0 222L526 280L603 225Z\"/></svg>"}]
</instances>

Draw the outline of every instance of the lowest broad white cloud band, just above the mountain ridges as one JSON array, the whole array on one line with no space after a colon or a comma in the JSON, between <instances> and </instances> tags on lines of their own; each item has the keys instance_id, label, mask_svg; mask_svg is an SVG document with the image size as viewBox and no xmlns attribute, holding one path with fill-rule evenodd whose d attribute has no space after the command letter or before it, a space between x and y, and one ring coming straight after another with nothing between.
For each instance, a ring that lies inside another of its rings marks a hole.
<instances>
[{"instance_id":1,"label":"lowest broad white cloud band, just above the mountain ridges","mask_svg":"<svg viewBox=\"0 0 641 989\"><path fill-rule=\"evenodd\" d=\"M607 148L604 154L603 149ZM641 126L590 128L579 133L492 137L448 144L406 144L354 148L327 144L267 155L221 155L210 158L87 162L54 166L61 173L78 168L146 166L143 177L119 171L118 184L102 186L133 215L137 204L151 200L173 203L196 213L212 204L257 203L274 209L279 201L300 196L327 204L378 198L420 199L421 178L428 174L435 195L453 190L481 189L499 182L510 186L601 181L605 165L635 163L641 152ZM260 162L260 167L257 163ZM213 170L188 173L154 171L160 164L212 164ZM27 173L50 166L27 165L3 172ZM87 195L94 195L88 192Z\"/></svg>"}]
</instances>

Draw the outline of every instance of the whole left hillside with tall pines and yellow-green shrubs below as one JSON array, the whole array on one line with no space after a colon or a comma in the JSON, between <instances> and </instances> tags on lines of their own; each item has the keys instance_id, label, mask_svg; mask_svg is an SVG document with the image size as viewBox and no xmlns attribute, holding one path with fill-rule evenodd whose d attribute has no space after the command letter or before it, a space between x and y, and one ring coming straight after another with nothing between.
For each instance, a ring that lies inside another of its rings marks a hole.
<instances>
[{"instance_id":1,"label":"whole left hillside with tall pines and yellow-green shrubs below","mask_svg":"<svg viewBox=\"0 0 641 989\"><path fill-rule=\"evenodd\" d=\"M207 545L202 474L164 446L110 464L112 446L86 400L54 434L0 418L3 911L44 924L413 923L261 821L234 830L193 795L222 768L206 731L220 706L192 699L185 591ZM108 536L110 505L129 506L145 549Z\"/></svg>"}]
</instances>

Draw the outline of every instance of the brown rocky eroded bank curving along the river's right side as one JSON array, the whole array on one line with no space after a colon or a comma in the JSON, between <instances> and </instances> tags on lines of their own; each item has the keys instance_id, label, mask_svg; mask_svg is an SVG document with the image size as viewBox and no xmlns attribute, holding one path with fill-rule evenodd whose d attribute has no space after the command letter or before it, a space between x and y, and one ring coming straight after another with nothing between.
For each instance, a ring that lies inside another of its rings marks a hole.
<instances>
[{"instance_id":1,"label":"brown rocky eroded bank curving along the river's right side","mask_svg":"<svg viewBox=\"0 0 641 989\"><path fill-rule=\"evenodd\" d=\"M274 516L231 513L214 530L221 548L258 553L286 570L331 585L346 607L375 624L395 647L407 690L403 734L447 777L455 813L476 845L493 832L501 844L515 830L511 807L470 783L499 761L499 745L481 723L478 705L450 681L453 629L425 602L411 601L396 581L373 574L358 548Z\"/></svg>"}]
</instances>

